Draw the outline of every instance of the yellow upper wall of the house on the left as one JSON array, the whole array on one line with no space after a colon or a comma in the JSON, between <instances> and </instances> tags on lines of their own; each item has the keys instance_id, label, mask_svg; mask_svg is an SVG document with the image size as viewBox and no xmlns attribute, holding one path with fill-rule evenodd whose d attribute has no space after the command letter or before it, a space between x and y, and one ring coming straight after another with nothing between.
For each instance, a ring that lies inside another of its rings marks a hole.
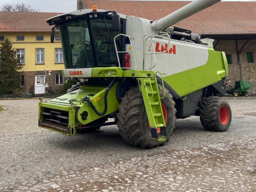
<instances>
[{"instance_id":1,"label":"yellow upper wall of the house on the left","mask_svg":"<svg viewBox=\"0 0 256 192\"><path fill-rule=\"evenodd\" d=\"M17 35L24 35L24 41L16 41ZM36 35L43 35L44 41L36 41ZM58 32L55 35L60 35ZM55 48L61 48L60 41L51 43L49 32L26 32L26 33L0 33L0 36L8 37L14 49L24 49L25 65L22 71L61 70L64 64L55 64ZM44 64L36 64L36 49L44 48Z\"/></svg>"}]
</instances>

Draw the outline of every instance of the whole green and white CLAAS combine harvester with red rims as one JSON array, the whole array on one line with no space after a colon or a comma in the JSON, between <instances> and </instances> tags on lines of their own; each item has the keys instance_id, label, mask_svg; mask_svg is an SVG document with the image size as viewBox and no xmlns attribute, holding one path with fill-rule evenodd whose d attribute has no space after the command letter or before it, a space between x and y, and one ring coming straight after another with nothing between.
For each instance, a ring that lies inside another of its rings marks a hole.
<instances>
[{"instance_id":1,"label":"whole green and white CLAAS combine harvester with red rims","mask_svg":"<svg viewBox=\"0 0 256 192\"><path fill-rule=\"evenodd\" d=\"M225 53L173 26L219 1L195 0L156 21L96 6L48 19L52 42L60 31L62 73L78 83L39 102L39 126L71 136L117 124L127 143L142 148L164 144L175 120L188 116L200 116L207 130L227 130Z\"/></svg>"}]
</instances>

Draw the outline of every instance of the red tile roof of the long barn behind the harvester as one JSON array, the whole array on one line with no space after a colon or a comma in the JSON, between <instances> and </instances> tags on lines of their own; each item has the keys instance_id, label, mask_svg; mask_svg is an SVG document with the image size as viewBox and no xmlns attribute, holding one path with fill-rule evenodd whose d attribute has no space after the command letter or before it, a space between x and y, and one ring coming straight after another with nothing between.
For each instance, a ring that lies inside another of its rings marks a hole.
<instances>
[{"instance_id":1,"label":"red tile roof of the long barn behind the harvester","mask_svg":"<svg viewBox=\"0 0 256 192\"><path fill-rule=\"evenodd\" d=\"M85 9L116 11L150 20L162 18L185 6L188 1L84 0ZM256 34L256 2L219 2L175 26L198 34Z\"/></svg>"}]
</instances>

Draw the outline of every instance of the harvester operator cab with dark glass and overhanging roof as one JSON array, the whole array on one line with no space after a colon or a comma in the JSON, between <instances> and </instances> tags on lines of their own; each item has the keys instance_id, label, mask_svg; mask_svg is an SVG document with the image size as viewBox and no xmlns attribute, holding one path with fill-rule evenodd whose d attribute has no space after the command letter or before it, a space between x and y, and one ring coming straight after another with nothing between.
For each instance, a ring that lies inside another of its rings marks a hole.
<instances>
[{"instance_id":1,"label":"harvester operator cab with dark glass and overhanging roof","mask_svg":"<svg viewBox=\"0 0 256 192\"><path fill-rule=\"evenodd\" d=\"M78 10L47 22L60 30L66 69L118 66L114 37L124 33L125 20L120 24L116 12ZM123 42L121 36L116 39L117 51L125 49ZM122 55L119 57L121 60Z\"/></svg>"}]
</instances>

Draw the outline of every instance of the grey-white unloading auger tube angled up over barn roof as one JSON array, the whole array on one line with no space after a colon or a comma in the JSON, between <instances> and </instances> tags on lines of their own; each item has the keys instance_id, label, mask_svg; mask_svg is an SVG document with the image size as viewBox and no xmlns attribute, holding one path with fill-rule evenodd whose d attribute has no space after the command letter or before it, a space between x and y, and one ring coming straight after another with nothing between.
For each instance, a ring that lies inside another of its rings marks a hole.
<instances>
[{"instance_id":1,"label":"grey-white unloading auger tube angled up over barn roof","mask_svg":"<svg viewBox=\"0 0 256 192\"><path fill-rule=\"evenodd\" d=\"M163 31L175 23L190 17L191 15L202 11L203 9L210 7L211 5L218 3L221 0L195 0L184 7L181 7L175 12L154 21L151 26L152 30Z\"/></svg>"}]
</instances>

